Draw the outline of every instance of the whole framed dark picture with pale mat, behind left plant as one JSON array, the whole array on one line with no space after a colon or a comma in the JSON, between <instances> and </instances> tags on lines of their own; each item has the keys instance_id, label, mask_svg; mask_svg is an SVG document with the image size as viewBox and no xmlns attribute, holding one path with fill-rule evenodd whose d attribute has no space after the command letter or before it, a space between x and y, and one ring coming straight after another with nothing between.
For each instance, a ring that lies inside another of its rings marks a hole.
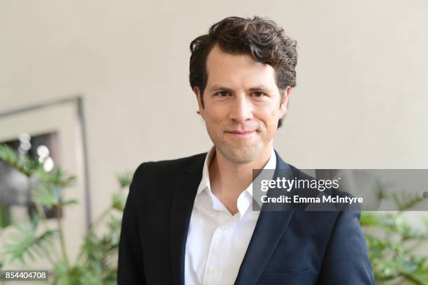
<instances>
[{"instance_id":1,"label":"whole framed dark picture with pale mat, behind left plant","mask_svg":"<svg viewBox=\"0 0 428 285\"><path fill-rule=\"evenodd\" d=\"M59 166L66 175L77 177L77 183L67 188L62 198L79 203L65 207L61 213L55 212L55 208L45 212L47 218L62 215L71 253L78 252L80 237L91 221L85 140L83 99L80 96L0 112L0 143L8 144L19 155L43 159L46 170ZM0 161L0 205L9 207L15 219L26 219L34 210L29 185L31 181L25 175Z\"/></svg>"}]
</instances>

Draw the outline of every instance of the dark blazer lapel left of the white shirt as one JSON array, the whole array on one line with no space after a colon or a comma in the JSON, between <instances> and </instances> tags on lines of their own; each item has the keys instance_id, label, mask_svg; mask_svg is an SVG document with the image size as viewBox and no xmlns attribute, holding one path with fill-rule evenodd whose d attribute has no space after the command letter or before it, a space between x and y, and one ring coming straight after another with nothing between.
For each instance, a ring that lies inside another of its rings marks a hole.
<instances>
[{"instance_id":1,"label":"dark blazer lapel left of the white shirt","mask_svg":"<svg viewBox=\"0 0 428 285\"><path fill-rule=\"evenodd\" d=\"M184 284L185 248L194 198L202 178L206 155L195 158L176 178L171 207L171 266L173 284Z\"/></svg>"}]
</instances>

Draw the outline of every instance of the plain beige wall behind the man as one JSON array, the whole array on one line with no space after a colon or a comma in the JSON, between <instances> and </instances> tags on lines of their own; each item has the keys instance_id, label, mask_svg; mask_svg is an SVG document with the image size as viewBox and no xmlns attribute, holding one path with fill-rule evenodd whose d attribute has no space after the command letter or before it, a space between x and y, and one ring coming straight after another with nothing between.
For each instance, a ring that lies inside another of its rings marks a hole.
<instances>
[{"instance_id":1,"label":"plain beige wall behind the man","mask_svg":"<svg viewBox=\"0 0 428 285\"><path fill-rule=\"evenodd\" d=\"M189 44L229 15L269 16L298 41L298 86L275 140L285 161L428 168L422 0L2 0L0 112L84 94L97 214L115 173L211 146L187 80Z\"/></svg>"}]
</instances>

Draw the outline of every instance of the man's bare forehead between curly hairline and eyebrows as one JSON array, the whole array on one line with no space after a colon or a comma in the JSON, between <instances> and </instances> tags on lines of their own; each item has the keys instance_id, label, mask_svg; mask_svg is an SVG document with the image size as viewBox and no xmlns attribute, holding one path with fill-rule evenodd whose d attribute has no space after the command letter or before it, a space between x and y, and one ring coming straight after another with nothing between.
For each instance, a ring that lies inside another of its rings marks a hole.
<instances>
[{"instance_id":1,"label":"man's bare forehead between curly hairline and eyebrows","mask_svg":"<svg viewBox=\"0 0 428 285\"><path fill-rule=\"evenodd\" d=\"M215 45L206 59L208 82L230 88L266 85L276 87L275 70L269 64L254 61L249 54L229 54Z\"/></svg>"}]
</instances>

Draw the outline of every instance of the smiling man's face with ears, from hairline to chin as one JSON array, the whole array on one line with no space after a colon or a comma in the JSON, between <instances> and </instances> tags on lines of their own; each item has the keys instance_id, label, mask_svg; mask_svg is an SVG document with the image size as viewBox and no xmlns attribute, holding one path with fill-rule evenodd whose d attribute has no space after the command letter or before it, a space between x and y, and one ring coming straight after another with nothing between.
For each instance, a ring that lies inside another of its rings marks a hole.
<instances>
[{"instance_id":1,"label":"smiling man's face with ears, from hairline to chin","mask_svg":"<svg viewBox=\"0 0 428 285\"><path fill-rule=\"evenodd\" d=\"M228 54L215 45L206 60L204 108L199 113L216 149L232 163L249 163L270 152L278 119L285 115L290 87L280 92L272 66L248 54Z\"/></svg>"}]
</instances>

